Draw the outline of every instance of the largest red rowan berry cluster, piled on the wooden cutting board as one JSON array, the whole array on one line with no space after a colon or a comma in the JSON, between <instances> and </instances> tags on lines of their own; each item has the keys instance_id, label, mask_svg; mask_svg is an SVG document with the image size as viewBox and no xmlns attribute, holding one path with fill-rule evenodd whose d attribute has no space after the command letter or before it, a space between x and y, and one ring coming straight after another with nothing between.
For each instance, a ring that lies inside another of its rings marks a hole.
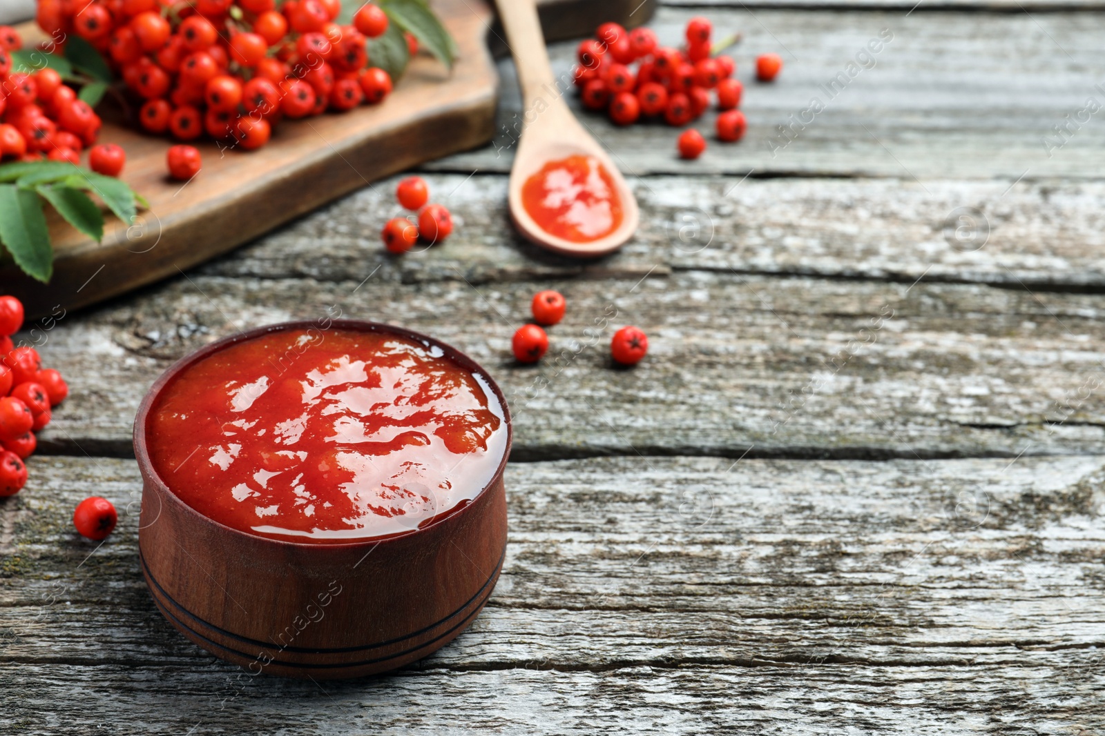
<instances>
[{"instance_id":1,"label":"largest red rowan berry cluster, piled on the wooden cutting board","mask_svg":"<svg viewBox=\"0 0 1105 736\"><path fill-rule=\"evenodd\" d=\"M391 92L366 50L387 14L369 3L338 25L340 10L340 0L287 0L278 10L275 0L39 0L38 22L99 51L144 100L146 130L252 150L283 117L345 111Z\"/></svg>"}]
</instances>

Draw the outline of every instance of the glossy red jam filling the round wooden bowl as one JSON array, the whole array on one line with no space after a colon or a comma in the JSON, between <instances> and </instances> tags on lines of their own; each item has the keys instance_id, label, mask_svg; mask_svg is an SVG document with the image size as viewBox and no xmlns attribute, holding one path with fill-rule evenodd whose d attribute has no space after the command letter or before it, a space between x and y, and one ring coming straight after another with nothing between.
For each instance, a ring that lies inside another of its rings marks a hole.
<instances>
[{"instance_id":1,"label":"glossy red jam filling the round wooden bowl","mask_svg":"<svg viewBox=\"0 0 1105 736\"><path fill-rule=\"evenodd\" d=\"M157 474L233 529L341 543L474 499L506 451L486 378L389 332L285 330L179 373L147 420Z\"/></svg>"}]
</instances>

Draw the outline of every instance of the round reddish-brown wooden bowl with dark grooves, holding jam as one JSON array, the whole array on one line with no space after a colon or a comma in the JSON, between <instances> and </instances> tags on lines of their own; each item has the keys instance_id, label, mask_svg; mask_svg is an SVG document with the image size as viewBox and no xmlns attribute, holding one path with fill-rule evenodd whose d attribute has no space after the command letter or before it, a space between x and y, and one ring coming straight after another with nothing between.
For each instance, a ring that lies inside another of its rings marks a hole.
<instances>
[{"instance_id":1,"label":"round reddish-brown wooden bowl with dark grooves, holding jam","mask_svg":"<svg viewBox=\"0 0 1105 736\"><path fill-rule=\"evenodd\" d=\"M503 407L506 449L494 478L475 499L410 532L348 544L256 536L202 515L169 490L150 462L147 420L165 386L197 361L269 331L317 330L318 324L286 322L251 330L207 345L166 371L135 418L135 455L143 476L143 575L172 626L253 674L355 678L421 659L472 622L503 566L503 470L512 429L498 386L474 361L432 338L373 322L332 324L436 345L485 376Z\"/></svg>"}]
</instances>

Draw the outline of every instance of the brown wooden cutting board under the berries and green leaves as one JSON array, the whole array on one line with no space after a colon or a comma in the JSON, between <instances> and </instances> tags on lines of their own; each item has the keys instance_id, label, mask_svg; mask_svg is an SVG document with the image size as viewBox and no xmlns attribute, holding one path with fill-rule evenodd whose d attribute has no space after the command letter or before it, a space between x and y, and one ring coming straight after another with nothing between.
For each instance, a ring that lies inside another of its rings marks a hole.
<instances>
[{"instance_id":1,"label":"brown wooden cutting board under the berries and green leaves","mask_svg":"<svg viewBox=\"0 0 1105 736\"><path fill-rule=\"evenodd\" d=\"M604 21L639 25L652 15L655 1L539 4L546 38L555 40L590 34ZM434 0L433 6L460 49L452 72L420 54L381 105L284 120L257 151L221 152L214 142L201 142L203 170L187 185L166 175L171 140L105 120L99 141L126 149L122 178L149 201L149 209L135 223L108 216L102 243L48 212L53 279L34 281L6 257L0 294L22 299L29 319L56 306L84 307L176 276L376 179L486 143L494 135L498 92L488 45L504 50L502 31L485 0ZM40 35L31 25L20 30L28 40Z\"/></svg>"}]
</instances>

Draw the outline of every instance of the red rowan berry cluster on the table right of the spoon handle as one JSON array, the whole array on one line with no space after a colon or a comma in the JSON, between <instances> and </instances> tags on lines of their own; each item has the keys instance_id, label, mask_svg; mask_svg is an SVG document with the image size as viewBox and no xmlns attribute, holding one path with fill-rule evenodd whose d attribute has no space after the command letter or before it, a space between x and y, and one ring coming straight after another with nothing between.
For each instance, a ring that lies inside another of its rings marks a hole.
<instances>
[{"instance_id":1,"label":"red rowan berry cluster on the table right of the spoon handle","mask_svg":"<svg viewBox=\"0 0 1105 736\"><path fill-rule=\"evenodd\" d=\"M579 65L575 79L585 107L606 110L618 125L641 118L663 119L682 127L697 119L715 104L717 138L736 141L745 135L747 121L737 109L744 86L733 77L737 65L730 56L712 55L713 25L705 18L686 24L686 46L661 46L646 28L627 31L618 23L603 23L597 38L577 49ZM636 64L634 67L633 64ZM757 77L769 82L782 67L777 54L757 60ZM697 158L706 142L697 130L680 137L680 152Z\"/></svg>"}]
</instances>

